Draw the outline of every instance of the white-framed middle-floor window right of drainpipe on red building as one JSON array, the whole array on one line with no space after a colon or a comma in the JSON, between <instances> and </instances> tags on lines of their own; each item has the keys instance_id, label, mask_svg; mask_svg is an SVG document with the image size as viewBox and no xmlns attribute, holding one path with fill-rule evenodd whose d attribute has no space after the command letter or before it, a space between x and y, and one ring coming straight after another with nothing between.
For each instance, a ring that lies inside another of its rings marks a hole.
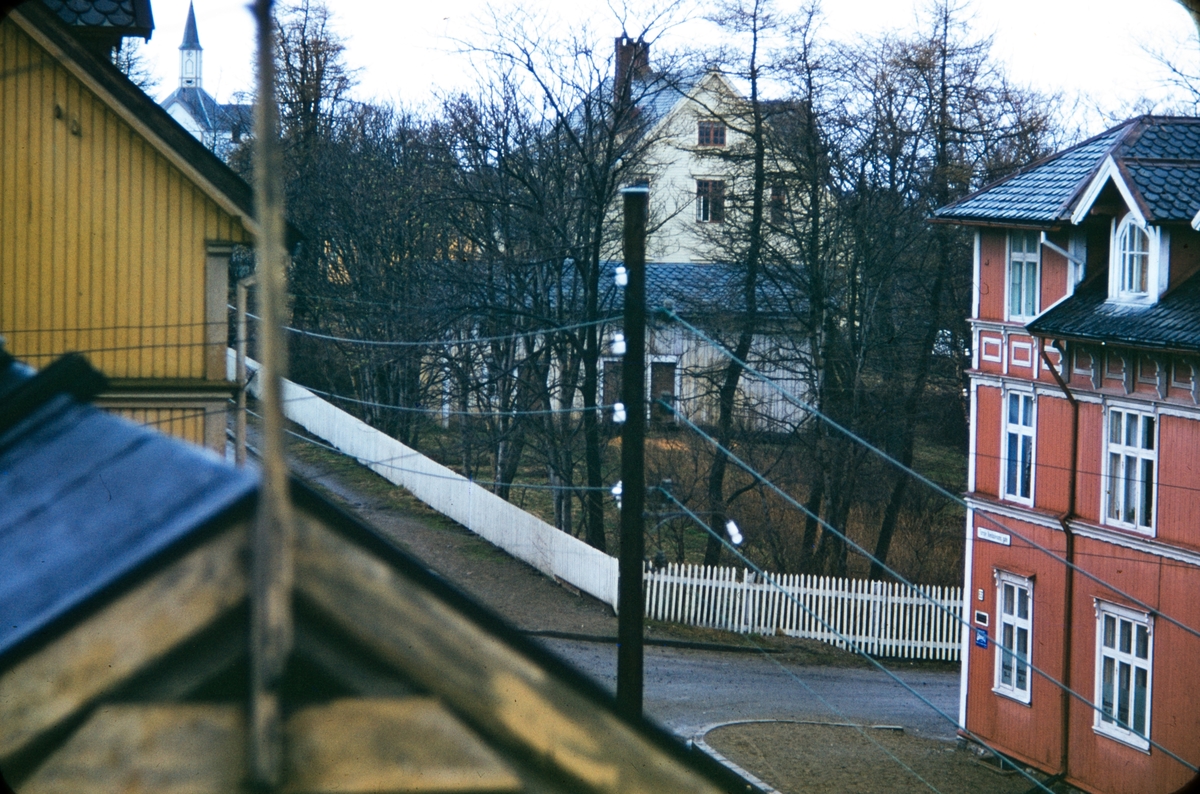
<instances>
[{"instance_id":1,"label":"white-framed middle-floor window right of drainpipe on red building","mask_svg":"<svg viewBox=\"0 0 1200 794\"><path fill-rule=\"evenodd\" d=\"M1153 415L1109 408L1104 435L1105 523L1153 530L1156 434Z\"/></svg>"}]
</instances>

